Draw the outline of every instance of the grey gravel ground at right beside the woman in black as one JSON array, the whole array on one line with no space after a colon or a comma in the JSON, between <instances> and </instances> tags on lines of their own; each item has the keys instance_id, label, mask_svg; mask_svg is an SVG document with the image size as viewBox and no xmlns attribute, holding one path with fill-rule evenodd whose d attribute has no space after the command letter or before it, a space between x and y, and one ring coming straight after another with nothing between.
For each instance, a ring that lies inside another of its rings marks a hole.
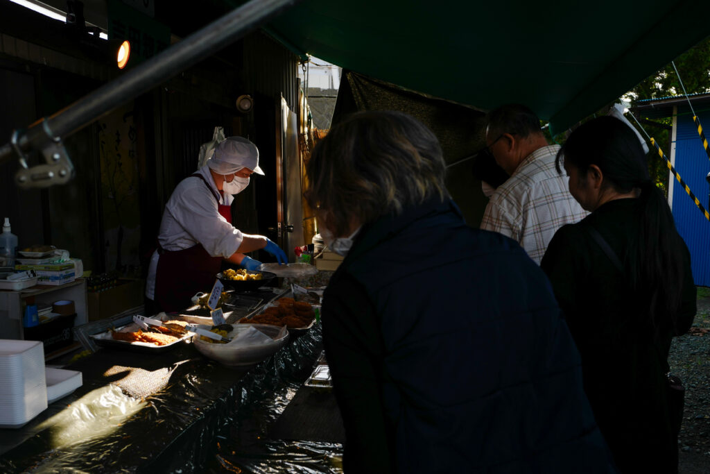
<instances>
[{"instance_id":1,"label":"grey gravel ground at right beside the woman in black","mask_svg":"<svg viewBox=\"0 0 710 474\"><path fill-rule=\"evenodd\" d=\"M710 473L710 289L698 287L698 312L687 335L674 338L668 362L685 385L678 440L679 474Z\"/></svg>"}]
</instances>

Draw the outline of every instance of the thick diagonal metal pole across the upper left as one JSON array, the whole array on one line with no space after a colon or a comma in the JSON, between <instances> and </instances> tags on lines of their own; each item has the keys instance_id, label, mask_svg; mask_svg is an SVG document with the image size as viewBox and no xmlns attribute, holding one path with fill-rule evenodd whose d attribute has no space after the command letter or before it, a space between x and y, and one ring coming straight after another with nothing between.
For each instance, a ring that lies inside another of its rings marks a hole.
<instances>
[{"instance_id":1,"label":"thick diagonal metal pole across the upper left","mask_svg":"<svg viewBox=\"0 0 710 474\"><path fill-rule=\"evenodd\" d=\"M278 16L283 10L301 0L251 0L229 12L217 21L170 46L146 63L136 66L126 74L107 82L69 107L56 112L18 137L17 145L23 151L35 141L49 141L53 137L67 136L82 129L104 114L138 95L160 85L178 72L204 60L230 43ZM13 146L0 148L0 163L13 156Z\"/></svg>"}]
</instances>

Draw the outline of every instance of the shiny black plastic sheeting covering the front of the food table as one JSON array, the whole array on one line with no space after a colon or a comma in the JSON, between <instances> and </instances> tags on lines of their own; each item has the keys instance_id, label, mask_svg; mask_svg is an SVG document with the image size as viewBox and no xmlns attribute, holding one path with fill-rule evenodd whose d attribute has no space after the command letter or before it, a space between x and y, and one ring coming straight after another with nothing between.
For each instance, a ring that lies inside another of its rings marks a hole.
<instances>
[{"instance_id":1,"label":"shiny black plastic sheeting covering the front of the food table","mask_svg":"<svg viewBox=\"0 0 710 474\"><path fill-rule=\"evenodd\" d=\"M0 430L4 446L24 437L0 456L0 471L342 473L339 443L266 436L321 350L320 325L247 368L208 360L192 345L155 357L101 350L66 367L82 371L80 389L22 429ZM114 365L170 367L170 380L133 399L117 388L116 375L105 375Z\"/></svg>"}]
</instances>

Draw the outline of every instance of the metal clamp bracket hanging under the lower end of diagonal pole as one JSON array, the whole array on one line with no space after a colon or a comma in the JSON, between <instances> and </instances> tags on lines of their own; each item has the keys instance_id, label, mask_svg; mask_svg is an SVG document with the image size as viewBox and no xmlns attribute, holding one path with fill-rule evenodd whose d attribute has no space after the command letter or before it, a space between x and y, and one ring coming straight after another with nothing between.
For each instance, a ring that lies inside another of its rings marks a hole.
<instances>
[{"instance_id":1,"label":"metal clamp bracket hanging under the lower end of diagonal pole","mask_svg":"<svg viewBox=\"0 0 710 474\"><path fill-rule=\"evenodd\" d=\"M18 146L18 136L20 132L12 132L10 143L20 161L20 170L15 173L15 183L19 188L48 188L55 184L66 184L74 178L74 165L69 158L69 154L62 144L59 136L52 136L47 126L47 120L43 121L43 130L50 141L41 147L40 152L45 158L46 164L29 167L27 158Z\"/></svg>"}]
</instances>

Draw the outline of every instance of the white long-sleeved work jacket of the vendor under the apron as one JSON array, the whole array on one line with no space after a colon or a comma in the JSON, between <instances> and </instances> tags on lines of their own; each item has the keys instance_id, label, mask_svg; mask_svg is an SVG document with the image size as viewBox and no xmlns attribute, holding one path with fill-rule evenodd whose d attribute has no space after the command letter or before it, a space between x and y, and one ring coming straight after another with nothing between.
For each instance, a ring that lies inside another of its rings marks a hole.
<instances>
[{"instance_id":1,"label":"white long-sleeved work jacket of the vendor under the apron","mask_svg":"<svg viewBox=\"0 0 710 474\"><path fill-rule=\"evenodd\" d=\"M204 182L195 176L180 181L165 205L158 242L160 247L168 251L189 249L202 244L212 257L229 258L239 249L244 237L239 229L235 229L219 214L215 194L220 195L222 205L231 205L234 196L228 194L226 200L222 198L206 165L197 173L202 175L212 190L207 189ZM155 273L159 258L156 250L148 265L146 297L150 299L155 299Z\"/></svg>"}]
</instances>

